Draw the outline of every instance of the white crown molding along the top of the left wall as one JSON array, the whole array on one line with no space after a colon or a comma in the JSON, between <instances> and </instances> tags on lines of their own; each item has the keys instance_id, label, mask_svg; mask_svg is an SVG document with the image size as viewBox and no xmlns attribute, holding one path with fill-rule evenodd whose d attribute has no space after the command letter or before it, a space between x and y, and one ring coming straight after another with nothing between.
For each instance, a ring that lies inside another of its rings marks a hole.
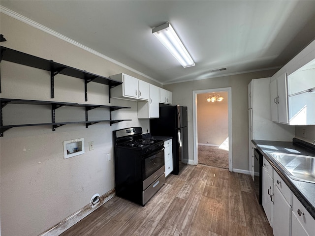
<instances>
[{"instance_id":1,"label":"white crown molding along the top of the left wall","mask_svg":"<svg viewBox=\"0 0 315 236\"><path fill-rule=\"evenodd\" d=\"M105 56L105 55L103 55L103 54L101 54L101 53L99 53L99 52L89 48L89 47L86 47L83 44L78 43L77 41L74 41L73 39L68 38L68 37L64 36L63 34L61 34L61 33L58 33L58 32L56 32L56 31L54 31L52 29L49 29L48 27L45 27L45 26L43 26L43 25L41 25L41 24L39 24L39 23L37 23L37 22L35 22L35 21L33 21L33 20L31 20L31 19L29 19L29 18L27 18L27 17L25 17L25 16L23 16L23 15L17 13L17 12L15 12L15 11L12 11L12 10L4 7L4 6L0 5L0 12L5 14L5 15L8 15L8 16L16 19L16 20L19 20L19 21L21 21L21 22L23 22L23 23L25 23L25 24L27 24L29 26L32 26L32 27L34 27L36 29L39 29L39 30L44 31L46 33L49 33L50 35L53 35L53 36L55 36L55 37L57 37L59 39L62 39L65 42L71 43L72 45L75 45L75 46L77 46L77 47L79 47L79 48L81 48L81 49L83 49L83 50L85 50L85 51L87 51L89 53L92 53L92 54L94 54L94 55L96 55L96 56L98 56L98 57L100 57L102 59L105 59L105 60L108 60L110 62L113 62L116 65L124 67L127 70L130 70L130 71L132 71L134 73L137 73L138 75L141 75L141 76L143 76L143 77L145 77L145 78L147 78L149 80L155 81L158 84L162 85L162 83L160 81L158 81L158 80L156 80L156 79L154 79L154 78L152 78L152 77L150 77L150 76L148 76L146 74L143 74L142 72L137 71L137 70L135 70L135 69L125 65L124 63L121 63L121 62L119 62L119 61L117 61L115 59L109 58L109 57L107 57L107 56Z\"/></svg>"}]
</instances>

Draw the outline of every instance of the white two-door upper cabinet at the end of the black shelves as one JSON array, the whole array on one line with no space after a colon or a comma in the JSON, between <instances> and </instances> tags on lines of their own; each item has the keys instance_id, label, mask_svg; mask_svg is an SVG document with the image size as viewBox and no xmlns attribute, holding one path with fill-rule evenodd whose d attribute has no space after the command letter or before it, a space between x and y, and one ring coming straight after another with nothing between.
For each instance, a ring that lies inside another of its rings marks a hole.
<instances>
[{"instance_id":1,"label":"white two-door upper cabinet at the end of the black shelves","mask_svg":"<svg viewBox=\"0 0 315 236\"><path fill-rule=\"evenodd\" d=\"M111 97L132 101L149 100L149 83L124 73L111 75L110 78L123 82L122 85L111 89Z\"/></svg>"}]
</instances>

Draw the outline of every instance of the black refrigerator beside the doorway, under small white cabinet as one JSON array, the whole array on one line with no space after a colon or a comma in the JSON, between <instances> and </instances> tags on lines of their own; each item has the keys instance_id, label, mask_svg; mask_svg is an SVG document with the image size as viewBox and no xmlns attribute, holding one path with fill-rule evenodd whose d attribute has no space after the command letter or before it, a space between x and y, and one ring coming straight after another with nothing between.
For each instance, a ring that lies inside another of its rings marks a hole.
<instances>
[{"instance_id":1,"label":"black refrigerator beside the doorway, under small white cabinet","mask_svg":"<svg viewBox=\"0 0 315 236\"><path fill-rule=\"evenodd\" d=\"M178 175L188 163L187 107L160 106L159 118L150 119L152 135L170 136L173 144L173 172Z\"/></svg>"}]
</instances>

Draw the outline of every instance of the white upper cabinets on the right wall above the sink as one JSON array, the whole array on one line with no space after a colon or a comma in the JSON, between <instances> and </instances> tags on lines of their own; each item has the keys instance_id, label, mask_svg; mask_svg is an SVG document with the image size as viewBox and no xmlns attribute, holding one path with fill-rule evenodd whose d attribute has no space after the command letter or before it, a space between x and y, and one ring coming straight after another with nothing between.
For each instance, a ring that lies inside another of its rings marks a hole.
<instances>
[{"instance_id":1,"label":"white upper cabinets on the right wall above the sink","mask_svg":"<svg viewBox=\"0 0 315 236\"><path fill-rule=\"evenodd\" d=\"M315 124L315 40L271 77L270 93L273 121Z\"/></svg>"}]
</instances>

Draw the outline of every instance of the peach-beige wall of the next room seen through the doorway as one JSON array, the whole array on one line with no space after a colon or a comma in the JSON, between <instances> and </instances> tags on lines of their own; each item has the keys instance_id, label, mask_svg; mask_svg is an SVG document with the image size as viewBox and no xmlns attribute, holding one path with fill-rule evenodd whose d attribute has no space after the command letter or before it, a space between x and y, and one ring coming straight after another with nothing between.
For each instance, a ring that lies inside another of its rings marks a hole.
<instances>
[{"instance_id":1,"label":"peach-beige wall of the next room seen through the doorway","mask_svg":"<svg viewBox=\"0 0 315 236\"><path fill-rule=\"evenodd\" d=\"M214 93L197 94L198 143L221 145L228 137L227 92L216 92L224 99L207 102Z\"/></svg>"}]
</instances>

